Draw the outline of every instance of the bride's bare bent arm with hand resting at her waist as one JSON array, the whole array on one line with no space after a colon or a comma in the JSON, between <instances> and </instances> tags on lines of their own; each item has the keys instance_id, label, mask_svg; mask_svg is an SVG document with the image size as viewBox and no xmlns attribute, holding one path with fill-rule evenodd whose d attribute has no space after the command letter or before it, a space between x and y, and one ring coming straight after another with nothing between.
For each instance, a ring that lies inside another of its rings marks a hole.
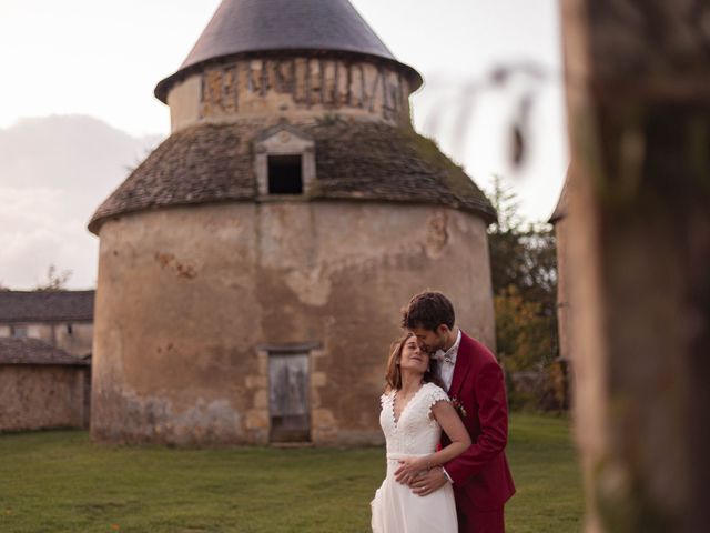
<instances>
[{"instance_id":1,"label":"bride's bare bent arm with hand resting at her waist","mask_svg":"<svg viewBox=\"0 0 710 533\"><path fill-rule=\"evenodd\" d=\"M397 469L395 476L404 474L406 477L409 477L423 470L430 470L434 466L445 464L457 455L464 453L468 450L468 446L470 446L470 435L468 434L468 431L466 431L462 419L458 418L458 413L450 402L436 402L432 406L432 416L436 419L452 443L430 455L404 459L399 461L402 466Z\"/></svg>"}]
</instances>

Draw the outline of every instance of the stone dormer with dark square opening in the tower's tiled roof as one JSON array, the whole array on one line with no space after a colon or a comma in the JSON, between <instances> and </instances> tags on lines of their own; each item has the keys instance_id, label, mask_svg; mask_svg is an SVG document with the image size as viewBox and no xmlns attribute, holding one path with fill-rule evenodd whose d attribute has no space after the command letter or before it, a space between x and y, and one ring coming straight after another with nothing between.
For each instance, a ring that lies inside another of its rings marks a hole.
<instances>
[{"instance_id":1,"label":"stone dormer with dark square opening in the tower's tiled roof","mask_svg":"<svg viewBox=\"0 0 710 533\"><path fill-rule=\"evenodd\" d=\"M314 142L290 124L278 124L254 140L254 164L262 199L307 197L315 180Z\"/></svg>"}]
</instances>

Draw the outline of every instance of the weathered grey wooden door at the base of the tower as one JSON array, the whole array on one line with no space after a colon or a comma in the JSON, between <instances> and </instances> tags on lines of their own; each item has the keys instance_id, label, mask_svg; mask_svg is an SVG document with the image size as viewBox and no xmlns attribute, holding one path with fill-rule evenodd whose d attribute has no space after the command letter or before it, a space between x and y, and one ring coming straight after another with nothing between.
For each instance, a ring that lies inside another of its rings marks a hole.
<instances>
[{"instance_id":1,"label":"weathered grey wooden door at the base of the tower","mask_svg":"<svg viewBox=\"0 0 710 533\"><path fill-rule=\"evenodd\" d=\"M268 388L271 441L310 441L308 354L271 354Z\"/></svg>"}]
</instances>

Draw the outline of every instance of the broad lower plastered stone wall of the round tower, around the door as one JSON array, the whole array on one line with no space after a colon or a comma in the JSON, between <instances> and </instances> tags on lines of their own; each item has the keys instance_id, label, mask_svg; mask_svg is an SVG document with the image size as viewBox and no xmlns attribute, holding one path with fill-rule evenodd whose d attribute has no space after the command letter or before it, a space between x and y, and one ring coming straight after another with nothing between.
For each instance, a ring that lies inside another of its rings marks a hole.
<instances>
[{"instance_id":1,"label":"broad lower plastered stone wall of the round tower, around the door","mask_svg":"<svg viewBox=\"0 0 710 533\"><path fill-rule=\"evenodd\" d=\"M436 205L223 203L101 228L95 440L266 443L268 346L310 345L311 440L382 442L399 309L438 289L494 343L486 224Z\"/></svg>"}]
</instances>

